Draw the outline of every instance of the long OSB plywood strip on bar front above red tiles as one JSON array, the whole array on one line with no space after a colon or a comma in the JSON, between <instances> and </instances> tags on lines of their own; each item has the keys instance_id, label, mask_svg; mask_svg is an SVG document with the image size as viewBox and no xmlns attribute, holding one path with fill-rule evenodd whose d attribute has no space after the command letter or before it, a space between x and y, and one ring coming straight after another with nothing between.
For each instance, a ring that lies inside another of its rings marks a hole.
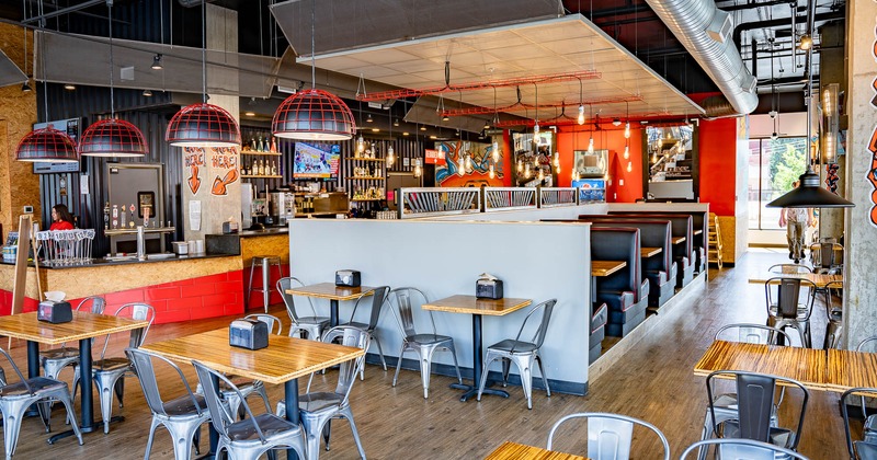
<instances>
[{"instance_id":1,"label":"long OSB plywood strip on bar front above red tiles","mask_svg":"<svg viewBox=\"0 0 877 460\"><path fill-rule=\"evenodd\" d=\"M216 275L242 268L240 257L166 261L148 264L95 265L44 271L44 290L61 290L68 299L100 296L164 283ZM29 278L30 280L30 278ZM29 295L30 296L30 295Z\"/></svg>"}]
</instances>

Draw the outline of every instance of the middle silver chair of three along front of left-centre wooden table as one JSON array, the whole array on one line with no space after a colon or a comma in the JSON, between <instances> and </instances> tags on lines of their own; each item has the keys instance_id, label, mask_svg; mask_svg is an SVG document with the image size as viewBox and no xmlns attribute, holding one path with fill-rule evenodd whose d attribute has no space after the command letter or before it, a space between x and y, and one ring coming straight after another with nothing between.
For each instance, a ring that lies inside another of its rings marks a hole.
<instances>
[{"instance_id":1,"label":"middle silver chair of three along front of left-centre wooden table","mask_svg":"<svg viewBox=\"0 0 877 460\"><path fill-rule=\"evenodd\" d=\"M305 439L301 427L297 423L272 414L265 404L265 413L254 415L235 383L221 372L217 372L198 361L192 361L204 388L204 400L210 413L210 422L219 434L216 448L217 457L225 450L231 459L258 459L262 453L273 449L295 449L299 458L305 458ZM237 392L241 407L247 414L242 421L236 422L236 412L231 412L219 396L219 384Z\"/></svg>"}]
</instances>

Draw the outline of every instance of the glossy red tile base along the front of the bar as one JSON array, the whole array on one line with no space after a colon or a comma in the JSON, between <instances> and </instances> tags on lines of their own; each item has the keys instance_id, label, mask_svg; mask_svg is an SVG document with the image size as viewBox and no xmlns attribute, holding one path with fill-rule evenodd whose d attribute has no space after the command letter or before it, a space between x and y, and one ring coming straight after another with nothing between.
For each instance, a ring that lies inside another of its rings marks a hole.
<instances>
[{"instance_id":1,"label":"glossy red tile base along the front of the bar","mask_svg":"<svg viewBox=\"0 0 877 460\"><path fill-rule=\"evenodd\" d=\"M288 273L288 267L286 273ZM272 280L276 283L276 275L274 275ZM235 271L109 292L102 297L106 299L106 312L110 313L115 312L125 303L149 303L156 309L156 323L161 324L243 313L243 288L242 273ZM254 294L253 299L261 308L261 297L257 299ZM82 299L67 300L76 308ZM274 301L272 297L272 302ZM281 301L277 296L276 302ZM25 298L24 311L35 311L37 304L36 299ZM12 292L0 289L0 314L10 314L11 309Z\"/></svg>"}]
</instances>

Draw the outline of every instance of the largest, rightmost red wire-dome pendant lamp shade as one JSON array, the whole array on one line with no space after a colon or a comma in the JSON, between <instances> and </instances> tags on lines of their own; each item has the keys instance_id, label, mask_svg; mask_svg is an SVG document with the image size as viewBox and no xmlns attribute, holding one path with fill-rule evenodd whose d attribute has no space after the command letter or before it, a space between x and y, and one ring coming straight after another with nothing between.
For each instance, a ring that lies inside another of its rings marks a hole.
<instances>
[{"instance_id":1,"label":"largest, rightmost red wire-dome pendant lamp shade","mask_svg":"<svg viewBox=\"0 0 877 460\"><path fill-rule=\"evenodd\" d=\"M337 95L304 90L286 97L271 124L274 136L300 140L346 140L356 133L353 113Z\"/></svg>"}]
</instances>

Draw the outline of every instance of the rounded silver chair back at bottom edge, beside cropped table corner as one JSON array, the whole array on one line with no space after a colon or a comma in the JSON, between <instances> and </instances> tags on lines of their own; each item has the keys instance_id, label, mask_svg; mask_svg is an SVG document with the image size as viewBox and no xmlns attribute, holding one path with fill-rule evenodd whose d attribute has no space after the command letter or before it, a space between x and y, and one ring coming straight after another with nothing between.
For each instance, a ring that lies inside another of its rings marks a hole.
<instances>
[{"instance_id":1,"label":"rounded silver chair back at bottom edge, beside cropped table corner","mask_svg":"<svg viewBox=\"0 0 877 460\"><path fill-rule=\"evenodd\" d=\"M573 418L588 421L588 452L585 455L591 460L629 459L630 442L634 439L634 426L636 425L646 427L658 436L664 447L663 459L670 460L670 444L658 427L639 418L605 412L582 412L567 415L557 421L548 432L548 450L551 450L554 446L555 433L560 425ZM652 453L648 457L656 458Z\"/></svg>"}]
</instances>

